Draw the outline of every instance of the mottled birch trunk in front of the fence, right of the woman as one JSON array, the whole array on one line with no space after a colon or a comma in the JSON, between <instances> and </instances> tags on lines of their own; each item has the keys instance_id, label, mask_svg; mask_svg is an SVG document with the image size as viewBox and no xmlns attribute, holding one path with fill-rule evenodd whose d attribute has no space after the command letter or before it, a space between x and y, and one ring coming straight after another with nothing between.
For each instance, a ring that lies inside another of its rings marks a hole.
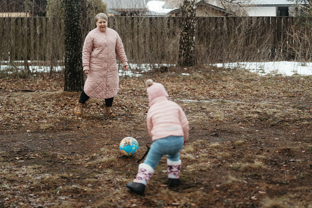
<instances>
[{"instance_id":1,"label":"mottled birch trunk in front of the fence, right of the woman","mask_svg":"<svg viewBox=\"0 0 312 208\"><path fill-rule=\"evenodd\" d=\"M195 64L195 17L196 0L184 0L178 60L178 65L181 67Z\"/></svg>"}]
</instances>

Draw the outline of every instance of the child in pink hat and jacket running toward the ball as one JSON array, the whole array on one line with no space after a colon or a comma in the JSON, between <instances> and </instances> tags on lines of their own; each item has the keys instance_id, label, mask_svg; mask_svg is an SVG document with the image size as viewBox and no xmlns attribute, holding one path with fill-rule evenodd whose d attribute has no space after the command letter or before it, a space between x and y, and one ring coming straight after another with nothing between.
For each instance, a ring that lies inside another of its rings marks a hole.
<instances>
[{"instance_id":1,"label":"child in pink hat and jacket running toward the ball","mask_svg":"<svg viewBox=\"0 0 312 208\"><path fill-rule=\"evenodd\" d=\"M173 101L162 84L146 80L149 95L149 111L147 113L147 128L152 137L152 145L133 182L127 187L137 194L143 194L145 186L154 173L163 155L167 155L168 186L180 183L179 173L181 160L179 152L188 139L188 120L182 108Z\"/></svg>"}]
</instances>

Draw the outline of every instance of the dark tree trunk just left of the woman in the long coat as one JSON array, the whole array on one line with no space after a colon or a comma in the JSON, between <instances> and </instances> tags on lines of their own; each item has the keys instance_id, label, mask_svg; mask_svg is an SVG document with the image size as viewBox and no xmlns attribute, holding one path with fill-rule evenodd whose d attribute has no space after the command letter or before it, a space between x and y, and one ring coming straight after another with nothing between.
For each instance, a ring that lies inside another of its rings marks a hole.
<instances>
[{"instance_id":1,"label":"dark tree trunk just left of the woman in the long coat","mask_svg":"<svg viewBox=\"0 0 312 208\"><path fill-rule=\"evenodd\" d=\"M80 92L84 85L82 70L81 4L76 0L65 0L65 84L64 91Z\"/></svg>"}]
</instances>

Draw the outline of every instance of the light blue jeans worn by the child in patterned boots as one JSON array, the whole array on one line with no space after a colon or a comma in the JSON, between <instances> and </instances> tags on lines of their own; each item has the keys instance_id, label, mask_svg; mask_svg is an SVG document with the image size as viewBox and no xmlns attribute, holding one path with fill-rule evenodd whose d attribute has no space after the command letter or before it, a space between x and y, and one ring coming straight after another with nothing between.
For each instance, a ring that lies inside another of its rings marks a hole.
<instances>
[{"instance_id":1,"label":"light blue jeans worn by the child in patterned boots","mask_svg":"<svg viewBox=\"0 0 312 208\"><path fill-rule=\"evenodd\" d=\"M163 155L167 155L171 161L179 161L179 152L184 144L183 136L168 136L155 140L143 163L151 166L153 169L157 166Z\"/></svg>"}]
</instances>

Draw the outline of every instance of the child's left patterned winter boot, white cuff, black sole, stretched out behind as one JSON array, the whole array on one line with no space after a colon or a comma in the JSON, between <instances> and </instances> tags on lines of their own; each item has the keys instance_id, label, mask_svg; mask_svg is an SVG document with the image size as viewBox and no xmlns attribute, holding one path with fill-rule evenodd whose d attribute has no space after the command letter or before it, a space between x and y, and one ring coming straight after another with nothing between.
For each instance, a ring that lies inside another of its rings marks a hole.
<instances>
[{"instance_id":1,"label":"child's left patterned winter boot, white cuff, black sole, stretched out behind","mask_svg":"<svg viewBox=\"0 0 312 208\"><path fill-rule=\"evenodd\" d=\"M149 179L151 178L152 174L154 173L154 169L145 164L141 163L139 165L138 174L135 176L133 182L129 182L127 187L134 193L142 195L144 193L145 186Z\"/></svg>"}]
</instances>

